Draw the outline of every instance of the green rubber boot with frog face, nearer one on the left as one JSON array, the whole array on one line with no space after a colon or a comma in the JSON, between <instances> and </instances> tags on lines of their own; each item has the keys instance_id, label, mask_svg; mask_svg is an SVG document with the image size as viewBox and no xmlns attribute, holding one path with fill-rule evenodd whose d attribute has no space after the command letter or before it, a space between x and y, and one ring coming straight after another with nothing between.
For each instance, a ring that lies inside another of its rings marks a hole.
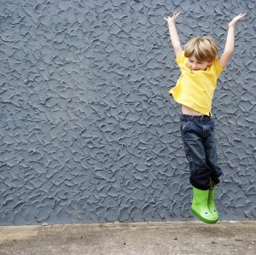
<instances>
[{"instance_id":1,"label":"green rubber boot with frog face, nearer one on the left","mask_svg":"<svg viewBox=\"0 0 256 255\"><path fill-rule=\"evenodd\" d=\"M209 189L201 190L193 187L193 200L191 212L204 223L215 224L218 222L218 217L213 216L208 208Z\"/></svg>"}]
</instances>

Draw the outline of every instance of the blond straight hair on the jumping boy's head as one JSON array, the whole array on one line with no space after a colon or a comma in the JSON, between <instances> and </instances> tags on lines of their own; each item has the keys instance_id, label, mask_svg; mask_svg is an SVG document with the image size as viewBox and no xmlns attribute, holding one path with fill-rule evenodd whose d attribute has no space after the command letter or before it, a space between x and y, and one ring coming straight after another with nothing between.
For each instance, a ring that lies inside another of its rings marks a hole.
<instances>
[{"instance_id":1,"label":"blond straight hair on the jumping boy's head","mask_svg":"<svg viewBox=\"0 0 256 255\"><path fill-rule=\"evenodd\" d=\"M198 61L212 61L218 54L218 43L214 38L192 38L184 47L185 57L195 55Z\"/></svg>"}]
</instances>

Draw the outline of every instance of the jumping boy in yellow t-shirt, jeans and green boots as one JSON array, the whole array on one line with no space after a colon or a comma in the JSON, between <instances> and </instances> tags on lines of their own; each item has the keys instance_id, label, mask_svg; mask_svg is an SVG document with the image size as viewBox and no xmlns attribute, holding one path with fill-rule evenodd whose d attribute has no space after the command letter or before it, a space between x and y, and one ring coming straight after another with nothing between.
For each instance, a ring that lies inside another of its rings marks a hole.
<instances>
[{"instance_id":1,"label":"jumping boy in yellow t-shirt, jeans and green boots","mask_svg":"<svg viewBox=\"0 0 256 255\"><path fill-rule=\"evenodd\" d=\"M189 181L193 186L191 212L205 223L217 223L214 204L215 185L222 175L217 165L217 150L211 107L217 79L230 60L234 49L235 26L245 14L230 21L224 52L220 57L213 38L193 38L181 47L177 35L178 12L167 17L170 37L181 76L169 94L181 105L180 128L183 146L189 160Z\"/></svg>"}]
</instances>

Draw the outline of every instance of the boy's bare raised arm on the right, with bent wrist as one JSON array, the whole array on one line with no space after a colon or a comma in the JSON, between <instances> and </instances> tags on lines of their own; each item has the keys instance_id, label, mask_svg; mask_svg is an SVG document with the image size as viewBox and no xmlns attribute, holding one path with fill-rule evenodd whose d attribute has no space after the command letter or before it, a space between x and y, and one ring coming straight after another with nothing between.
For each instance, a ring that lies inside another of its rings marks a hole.
<instances>
[{"instance_id":1,"label":"boy's bare raised arm on the right, with bent wrist","mask_svg":"<svg viewBox=\"0 0 256 255\"><path fill-rule=\"evenodd\" d=\"M238 20L241 20L245 15L246 14L239 14L233 20L230 21L224 52L218 59L219 66L222 68L226 67L228 61L230 60L230 56L233 53L234 44L235 44L236 22Z\"/></svg>"}]
</instances>

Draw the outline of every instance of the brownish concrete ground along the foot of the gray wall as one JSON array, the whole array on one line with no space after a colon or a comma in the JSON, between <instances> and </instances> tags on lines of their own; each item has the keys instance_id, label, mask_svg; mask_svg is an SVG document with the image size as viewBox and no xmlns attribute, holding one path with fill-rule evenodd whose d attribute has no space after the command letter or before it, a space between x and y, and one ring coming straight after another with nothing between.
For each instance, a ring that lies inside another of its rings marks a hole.
<instances>
[{"instance_id":1,"label":"brownish concrete ground along the foot of the gray wall","mask_svg":"<svg viewBox=\"0 0 256 255\"><path fill-rule=\"evenodd\" d=\"M256 254L256 221L0 227L0 255Z\"/></svg>"}]
</instances>

